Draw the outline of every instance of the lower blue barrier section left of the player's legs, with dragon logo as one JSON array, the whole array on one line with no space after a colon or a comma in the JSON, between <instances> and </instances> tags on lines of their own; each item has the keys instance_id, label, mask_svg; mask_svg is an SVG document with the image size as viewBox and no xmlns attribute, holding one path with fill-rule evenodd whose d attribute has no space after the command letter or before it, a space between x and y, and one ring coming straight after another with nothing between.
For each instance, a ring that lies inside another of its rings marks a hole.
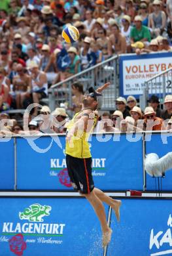
<instances>
[{"instance_id":1,"label":"lower blue barrier section left of the player's legs, with dragon logo","mask_svg":"<svg viewBox=\"0 0 172 256\"><path fill-rule=\"evenodd\" d=\"M0 205L0 256L103 256L100 224L84 198L0 198Z\"/></svg>"}]
</instances>

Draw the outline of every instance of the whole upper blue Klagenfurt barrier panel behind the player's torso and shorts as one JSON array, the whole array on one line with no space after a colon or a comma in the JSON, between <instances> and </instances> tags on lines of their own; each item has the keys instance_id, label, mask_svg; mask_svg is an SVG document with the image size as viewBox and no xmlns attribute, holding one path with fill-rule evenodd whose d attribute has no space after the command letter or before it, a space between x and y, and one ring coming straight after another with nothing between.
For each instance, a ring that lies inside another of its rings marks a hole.
<instances>
[{"instance_id":1,"label":"whole upper blue Klagenfurt barrier panel behind the player's torso and shorts","mask_svg":"<svg viewBox=\"0 0 172 256\"><path fill-rule=\"evenodd\" d=\"M113 191L143 190L142 140L130 142L126 135L120 135L120 141L113 141L112 135L105 136L111 138L100 142L101 137L93 135L90 141L95 186ZM65 136L58 138L61 148L53 141L43 154L33 150L28 139L17 139L18 190L73 190L65 163ZM51 141L51 137L42 137L35 143L44 149Z\"/></svg>"}]
</instances>

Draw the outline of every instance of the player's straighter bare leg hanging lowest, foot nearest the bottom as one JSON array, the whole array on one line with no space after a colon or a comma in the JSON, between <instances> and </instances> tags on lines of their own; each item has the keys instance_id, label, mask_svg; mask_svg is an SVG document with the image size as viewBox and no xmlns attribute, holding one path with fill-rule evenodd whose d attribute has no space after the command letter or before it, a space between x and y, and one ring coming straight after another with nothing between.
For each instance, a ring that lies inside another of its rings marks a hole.
<instances>
[{"instance_id":1,"label":"player's straighter bare leg hanging lowest, foot nearest the bottom","mask_svg":"<svg viewBox=\"0 0 172 256\"><path fill-rule=\"evenodd\" d=\"M99 218L99 221L101 223L101 229L103 232L102 245L103 247L105 247L111 241L112 230L111 228L109 228L107 224L105 208L103 206L103 203L96 196L94 190L90 194L82 194L82 196L85 196L86 199L91 203L97 217Z\"/></svg>"}]
</instances>

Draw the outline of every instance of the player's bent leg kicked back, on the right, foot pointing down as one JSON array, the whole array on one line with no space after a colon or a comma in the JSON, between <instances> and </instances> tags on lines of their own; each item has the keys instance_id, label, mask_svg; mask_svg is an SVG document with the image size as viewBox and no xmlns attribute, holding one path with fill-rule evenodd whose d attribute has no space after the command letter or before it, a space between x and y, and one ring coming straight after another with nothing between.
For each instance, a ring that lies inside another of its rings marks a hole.
<instances>
[{"instance_id":1,"label":"player's bent leg kicked back, on the right, foot pointing down","mask_svg":"<svg viewBox=\"0 0 172 256\"><path fill-rule=\"evenodd\" d=\"M103 191L99 190L98 188L94 188L94 193L97 196L97 198L99 198L99 200L107 203L108 205L110 205L112 207L112 209L114 210L114 213L116 215L117 221L120 221L121 201L114 200L114 199L110 198L109 196L107 196Z\"/></svg>"}]
</instances>

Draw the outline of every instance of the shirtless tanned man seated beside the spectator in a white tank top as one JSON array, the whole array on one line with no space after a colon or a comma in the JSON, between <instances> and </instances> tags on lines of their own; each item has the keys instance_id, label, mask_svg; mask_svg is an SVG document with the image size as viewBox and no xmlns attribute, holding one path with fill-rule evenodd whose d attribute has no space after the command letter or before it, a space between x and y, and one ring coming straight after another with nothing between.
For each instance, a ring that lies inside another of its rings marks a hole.
<instances>
[{"instance_id":1,"label":"shirtless tanned man seated beside the spectator in a white tank top","mask_svg":"<svg viewBox=\"0 0 172 256\"><path fill-rule=\"evenodd\" d=\"M31 79L29 75L24 72L22 64L16 66L17 75L12 79L13 91L16 98L16 107L23 108L23 102L26 98L26 91L30 87Z\"/></svg>"}]
</instances>

